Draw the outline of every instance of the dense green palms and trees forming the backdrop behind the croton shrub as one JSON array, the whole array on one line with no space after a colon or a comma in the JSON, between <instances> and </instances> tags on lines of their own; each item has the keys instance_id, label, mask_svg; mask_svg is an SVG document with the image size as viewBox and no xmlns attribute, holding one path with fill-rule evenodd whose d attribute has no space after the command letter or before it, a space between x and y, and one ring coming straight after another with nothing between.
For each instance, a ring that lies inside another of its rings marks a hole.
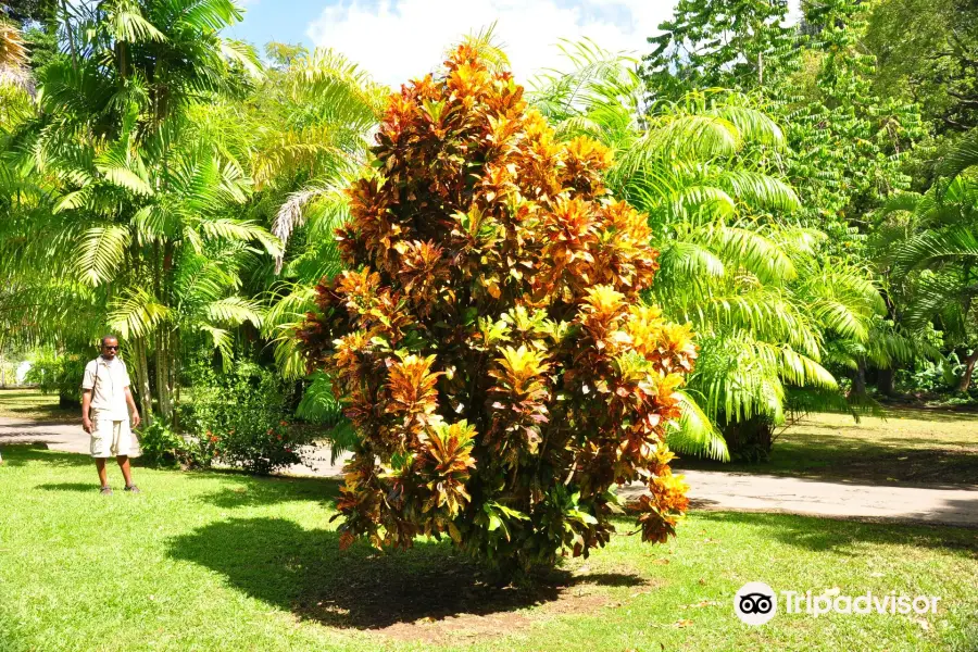
<instances>
[{"instance_id":1,"label":"dense green palms and trees forming the backdrop behind the croton shrub","mask_svg":"<svg viewBox=\"0 0 978 652\"><path fill-rule=\"evenodd\" d=\"M325 49L260 61L224 36L231 0L4 10L0 350L54 364L116 331L143 416L196 441L181 402L243 359L299 383L289 410L354 448L297 330L344 268L347 189L383 177L387 90ZM666 431L684 454L763 456L792 413L877 394L975 393L978 8L788 10L681 0L640 62L569 43L528 97L557 140L607 147L601 183L649 215L643 299L697 333ZM491 32L466 43L505 66ZM202 349L212 373L188 373Z\"/></svg>"}]
</instances>

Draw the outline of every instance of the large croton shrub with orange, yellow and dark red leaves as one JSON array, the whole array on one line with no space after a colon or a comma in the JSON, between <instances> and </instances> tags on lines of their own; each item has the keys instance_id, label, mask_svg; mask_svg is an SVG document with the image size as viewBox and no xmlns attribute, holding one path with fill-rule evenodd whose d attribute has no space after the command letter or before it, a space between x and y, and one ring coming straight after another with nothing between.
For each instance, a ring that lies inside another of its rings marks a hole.
<instances>
[{"instance_id":1,"label":"large croton shrub with orange, yellow and dark red leaves","mask_svg":"<svg viewBox=\"0 0 978 652\"><path fill-rule=\"evenodd\" d=\"M642 538L664 541L687 507L664 438L695 348L641 301L656 252L602 184L610 152L557 142L466 46L391 98L377 142L338 231L349 271L300 334L360 436L342 544L444 535L552 565L609 541L634 480Z\"/></svg>"}]
</instances>

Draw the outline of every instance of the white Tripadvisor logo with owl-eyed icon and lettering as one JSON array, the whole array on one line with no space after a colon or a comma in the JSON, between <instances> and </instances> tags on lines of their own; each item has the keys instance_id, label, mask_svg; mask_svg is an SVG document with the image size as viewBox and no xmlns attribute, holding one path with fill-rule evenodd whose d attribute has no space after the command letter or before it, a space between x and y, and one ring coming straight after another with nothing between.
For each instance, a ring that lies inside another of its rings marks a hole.
<instances>
[{"instance_id":1,"label":"white Tripadvisor logo with owl-eyed icon and lettering","mask_svg":"<svg viewBox=\"0 0 978 652\"><path fill-rule=\"evenodd\" d=\"M863 594L841 595L839 589L830 589L819 595L812 591L781 591L785 612L789 614L808 614L818 616L837 614L917 614L937 613L940 598L933 595L910 597L896 591L875 594L866 591ZM734 613L748 625L764 625L775 617L778 611L778 598L774 589L763 581L750 581L743 585L734 595Z\"/></svg>"}]
</instances>

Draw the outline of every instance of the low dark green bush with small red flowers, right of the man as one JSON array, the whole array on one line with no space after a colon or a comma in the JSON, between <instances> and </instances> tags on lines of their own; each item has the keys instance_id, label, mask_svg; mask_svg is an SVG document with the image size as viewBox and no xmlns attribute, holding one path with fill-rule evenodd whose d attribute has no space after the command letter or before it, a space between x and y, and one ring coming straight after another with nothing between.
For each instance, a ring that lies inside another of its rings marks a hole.
<instances>
[{"instance_id":1,"label":"low dark green bush with small red flowers, right of the man","mask_svg":"<svg viewBox=\"0 0 978 652\"><path fill-rule=\"evenodd\" d=\"M256 364L239 362L226 374L191 365L192 400L180 423L198 441L201 461L224 462L258 474L300 463L309 442L290 425L293 385Z\"/></svg>"}]
</instances>

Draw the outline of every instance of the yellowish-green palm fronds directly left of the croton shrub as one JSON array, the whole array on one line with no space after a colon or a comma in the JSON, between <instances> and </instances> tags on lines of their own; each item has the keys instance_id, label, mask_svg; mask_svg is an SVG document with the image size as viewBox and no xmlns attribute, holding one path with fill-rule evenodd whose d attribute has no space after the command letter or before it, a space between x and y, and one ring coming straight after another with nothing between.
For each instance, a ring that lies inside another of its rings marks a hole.
<instances>
[{"instance_id":1,"label":"yellowish-green palm fronds directly left of the croton shrub","mask_svg":"<svg viewBox=\"0 0 978 652\"><path fill-rule=\"evenodd\" d=\"M268 47L269 55L279 50ZM372 137L388 95L343 55L293 47L249 103L256 134L250 166L259 190L252 205L283 242L274 266L263 266L251 285L268 306L262 333L275 342L286 378L305 375L294 331L314 309L315 285L341 269L334 231L349 215L346 189L369 171ZM327 386L314 383L311 390ZM325 394L306 404L335 406Z\"/></svg>"}]
</instances>

